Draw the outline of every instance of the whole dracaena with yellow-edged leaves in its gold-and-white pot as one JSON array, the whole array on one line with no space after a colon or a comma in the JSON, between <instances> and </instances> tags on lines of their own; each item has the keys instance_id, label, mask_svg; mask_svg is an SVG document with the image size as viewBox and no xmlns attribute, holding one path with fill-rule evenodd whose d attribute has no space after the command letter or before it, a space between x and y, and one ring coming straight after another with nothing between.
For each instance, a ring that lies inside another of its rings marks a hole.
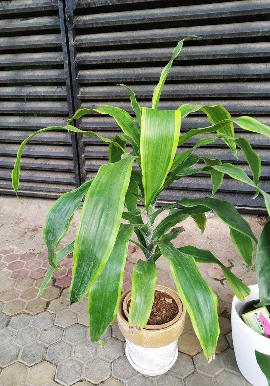
<instances>
[{"instance_id":1,"label":"whole dracaena with yellow-edged leaves in its gold-and-white pot","mask_svg":"<svg viewBox=\"0 0 270 386\"><path fill-rule=\"evenodd\" d=\"M258 185L261 172L260 158L247 139L235 137L233 125L268 137L270 127L251 117L232 119L230 113L221 105L183 104L177 110L158 109L164 82L185 39L178 42L171 60L162 70L160 80L153 91L152 108L140 107L134 92L129 87L121 85L130 93L137 122L118 107L102 105L95 109L82 108L68 119L65 127L46 127L25 139L18 149L12 171L12 184L17 193L23 146L34 135L47 130L83 133L110 144L109 163L99 168L95 178L58 198L47 214L43 237L48 247L50 268L40 293L50 280L53 271L60 269L58 264L63 257L73 251L70 300L80 301L88 295L90 339L100 340L102 333L117 314L120 330L126 338L128 360L138 371L150 375L162 374L176 360L177 340L183 330L186 310L205 357L211 361L215 356L219 335L217 297L202 278L197 262L218 264L239 300L245 299L250 294L250 289L210 251L200 250L192 245L175 248L171 241L181 230L175 225L191 216L203 232L206 225L205 212L212 210L228 225L233 244L249 269L252 266L253 245L257 243L250 225L230 202L208 197L182 198L180 201L156 209L155 204L160 193L182 176L204 170L210 173L214 194L222 185L223 175L228 174L252 186L255 196L262 194L270 213L270 195ZM181 119L198 110L207 115L210 125L180 134ZM91 112L113 117L122 129L123 135L108 139L90 130L77 129L71 124L73 120ZM208 133L214 135L202 136ZM178 146L184 145L190 137L197 135L200 135L200 138L193 147L185 151L180 148L179 154L176 155ZM194 149L220 138L228 145L236 159L237 147L241 149L253 179L250 179L242 168L230 163L192 154ZM133 154L128 152L126 144L131 146ZM203 166L198 167L197 163L200 160ZM143 210L137 207L138 200L142 203ZM124 210L124 204L127 211ZM81 205L82 212L75 240L55 252L68 229L73 213ZM175 208L177 205L181 209ZM165 209L170 209L167 217L158 225L154 225L155 218ZM146 223L143 223L142 212L147 213ZM121 219L128 223L121 223ZM131 239L133 232L137 235L135 241ZM139 260L133 268L131 297L130 290L121 296L129 241L134 242L145 255L145 260ZM157 286L155 262L160 256L168 259L177 292L166 286ZM161 322L148 322L153 302L163 301L165 298L168 304L164 303L164 307L168 308L168 305L171 305L171 309L168 310L170 318Z\"/></svg>"}]
</instances>

